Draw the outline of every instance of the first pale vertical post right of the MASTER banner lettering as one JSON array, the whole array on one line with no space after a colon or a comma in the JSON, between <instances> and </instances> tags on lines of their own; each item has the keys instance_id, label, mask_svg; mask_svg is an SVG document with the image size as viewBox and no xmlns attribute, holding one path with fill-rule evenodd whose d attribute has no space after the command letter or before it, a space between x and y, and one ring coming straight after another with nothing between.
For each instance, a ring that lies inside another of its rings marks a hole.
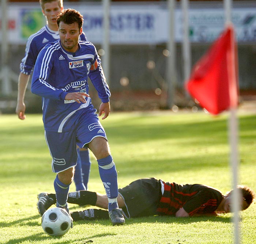
<instances>
[{"instance_id":1,"label":"first pale vertical post right of the MASTER banner lettering","mask_svg":"<svg viewBox=\"0 0 256 244\"><path fill-rule=\"evenodd\" d=\"M170 55L167 59L167 72L166 80L168 83L167 90L167 106L172 108L174 99L174 89L176 86L176 48L175 48L175 0L168 0L168 10L169 10L169 40L167 42L167 50Z\"/></svg>"}]
</instances>

